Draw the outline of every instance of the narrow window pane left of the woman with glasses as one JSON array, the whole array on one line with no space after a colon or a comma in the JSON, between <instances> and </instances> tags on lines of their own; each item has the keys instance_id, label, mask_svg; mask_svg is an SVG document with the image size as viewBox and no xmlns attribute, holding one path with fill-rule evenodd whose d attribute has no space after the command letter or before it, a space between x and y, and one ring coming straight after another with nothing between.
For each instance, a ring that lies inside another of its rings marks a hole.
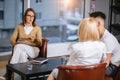
<instances>
[{"instance_id":1,"label":"narrow window pane left of the woman with glasses","mask_svg":"<svg viewBox=\"0 0 120 80\"><path fill-rule=\"evenodd\" d=\"M23 11L21 1L0 0L0 3L4 4L3 7L0 7L0 53L12 50L9 40L15 26L21 23L21 13Z\"/></svg>"}]
</instances>

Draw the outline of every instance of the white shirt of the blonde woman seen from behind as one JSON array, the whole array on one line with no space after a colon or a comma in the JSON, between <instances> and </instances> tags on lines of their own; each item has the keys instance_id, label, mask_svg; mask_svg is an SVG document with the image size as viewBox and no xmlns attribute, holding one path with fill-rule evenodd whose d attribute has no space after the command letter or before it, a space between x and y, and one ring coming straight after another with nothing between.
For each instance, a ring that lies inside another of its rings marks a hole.
<instances>
[{"instance_id":1,"label":"white shirt of the blonde woman seen from behind","mask_svg":"<svg viewBox=\"0 0 120 80\"><path fill-rule=\"evenodd\" d=\"M71 46L67 65L91 65L105 61L106 47L100 41L78 42Z\"/></svg>"}]
</instances>

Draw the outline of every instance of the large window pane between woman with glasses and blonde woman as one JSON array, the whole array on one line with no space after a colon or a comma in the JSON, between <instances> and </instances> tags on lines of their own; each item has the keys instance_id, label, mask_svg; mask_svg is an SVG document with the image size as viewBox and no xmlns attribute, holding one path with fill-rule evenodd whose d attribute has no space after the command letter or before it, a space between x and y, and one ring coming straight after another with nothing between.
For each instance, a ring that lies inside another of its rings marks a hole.
<instances>
[{"instance_id":1,"label":"large window pane between woman with glasses and blonde woman","mask_svg":"<svg viewBox=\"0 0 120 80\"><path fill-rule=\"evenodd\" d=\"M36 11L37 24L42 27L43 37L49 43L75 41L78 39L78 23L83 18L84 0L30 0ZM70 24L71 23L71 24Z\"/></svg>"}]
</instances>

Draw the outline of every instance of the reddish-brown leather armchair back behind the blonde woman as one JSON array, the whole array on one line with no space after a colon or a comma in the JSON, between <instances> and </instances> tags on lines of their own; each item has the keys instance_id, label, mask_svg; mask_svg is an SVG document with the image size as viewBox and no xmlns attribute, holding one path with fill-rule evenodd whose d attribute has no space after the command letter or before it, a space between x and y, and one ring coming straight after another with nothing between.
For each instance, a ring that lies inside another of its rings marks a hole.
<instances>
[{"instance_id":1,"label":"reddish-brown leather armchair back behind the blonde woman","mask_svg":"<svg viewBox=\"0 0 120 80\"><path fill-rule=\"evenodd\" d=\"M59 66L57 80L104 80L106 63L89 66Z\"/></svg>"}]
</instances>

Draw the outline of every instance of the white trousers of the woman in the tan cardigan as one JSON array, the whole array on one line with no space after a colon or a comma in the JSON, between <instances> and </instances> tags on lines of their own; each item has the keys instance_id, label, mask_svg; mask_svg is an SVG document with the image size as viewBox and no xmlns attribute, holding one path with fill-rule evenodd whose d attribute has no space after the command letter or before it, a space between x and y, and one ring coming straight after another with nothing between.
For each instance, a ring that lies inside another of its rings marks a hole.
<instances>
[{"instance_id":1,"label":"white trousers of the woman in the tan cardigan","mask_svg":"<svg viewBox=\"0 0 120 80\"><path fill-rule=\"evenodd\" d=\"M39 54L39 48L26 44L16 44L10 63L23 63L28 61L28 57L35 58Z\"/></svg>"}]
</instances>

